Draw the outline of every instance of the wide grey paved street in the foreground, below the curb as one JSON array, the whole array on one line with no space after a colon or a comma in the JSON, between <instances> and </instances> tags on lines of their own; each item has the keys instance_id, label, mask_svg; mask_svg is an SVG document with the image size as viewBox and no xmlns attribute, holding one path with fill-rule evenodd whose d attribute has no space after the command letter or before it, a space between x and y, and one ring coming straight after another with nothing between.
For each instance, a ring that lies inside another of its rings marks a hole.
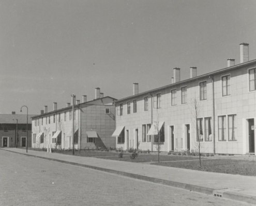
<instances>
[{"instance_id":1,"label":"wide grey paved street in the foreground, below the curb","mask_svg":"<svg viewBox=\"0 0 256 206\"><path fill-rule=\"evenodd\" d=\"M253 205L0 150L0 205Z\"/></svg>"}]
</instances>

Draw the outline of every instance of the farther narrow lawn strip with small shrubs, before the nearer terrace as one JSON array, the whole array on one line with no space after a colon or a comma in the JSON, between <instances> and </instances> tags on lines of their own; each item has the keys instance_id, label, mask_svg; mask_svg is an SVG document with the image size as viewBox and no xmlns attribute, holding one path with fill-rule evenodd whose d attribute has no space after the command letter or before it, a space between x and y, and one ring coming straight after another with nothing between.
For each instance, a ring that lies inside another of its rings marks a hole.
<instances>
[{"instance_id":1,"label":"farther narrow lawn strip with small shrubs, before the nearer terrace","mask_svg":"<svg viewBox=\"0 0 256 206\"><path fill-rule=\"evenodd\" d=\"M123 158L118 157L119 153L113 157L99 157L102 159L109 159L109 160L119 160L119 161L126 161L126 162L157 162L158 156L156 154L138 154L138 157L135 159L131 159L131 153L124 153ZM180 161L180 160L195 160L196 157L193 156L171 156L171 155L160 155L160 161Z\"/></svg>"}]
</instances>

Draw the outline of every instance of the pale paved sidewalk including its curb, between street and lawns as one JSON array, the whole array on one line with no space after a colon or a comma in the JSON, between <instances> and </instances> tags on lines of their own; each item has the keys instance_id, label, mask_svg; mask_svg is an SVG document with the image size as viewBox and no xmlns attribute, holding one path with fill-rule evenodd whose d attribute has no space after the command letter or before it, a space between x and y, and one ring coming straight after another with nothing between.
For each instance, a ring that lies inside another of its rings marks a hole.
<instances>
[{"instance_id":1,"label":"pale paved sidewalk including its curb, between street and lawns","mask_svg":"<svg viewBox=\"0 0 256 206\"><path fill-rule=\"evenodd\" d=\"M17 148L1 148L23 155L93 168L131 178L161 183L201 192L217 197L245 201L256 204L256 177L210 173L174 167L165 167L143 163L98 159L47 153Z\"/></svg>"}]
</instances>

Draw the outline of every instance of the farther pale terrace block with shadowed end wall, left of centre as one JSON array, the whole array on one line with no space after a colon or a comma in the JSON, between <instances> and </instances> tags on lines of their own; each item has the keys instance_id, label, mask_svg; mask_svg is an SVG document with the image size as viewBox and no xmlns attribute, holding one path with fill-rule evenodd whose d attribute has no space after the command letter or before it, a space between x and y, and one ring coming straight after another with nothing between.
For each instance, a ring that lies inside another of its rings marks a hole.
<instances>
[{"instance_id":1,"label":"farther pale terrace block with shadowed end wall, left of centre","mask_svg":"<svg viewBox=\"0 0 256 206\"><path fill-rule=\"evenodd\" d=\"M115 98L103 97L96 88L95 99L83 102L75 100L73 106L67 103L66 108L53 110L48 107L40 115L32 117L32 147L72 149L94 149L96 147L115 147ZM73 112L74 111L74 112Z\"/></svg>"}]
</instances>

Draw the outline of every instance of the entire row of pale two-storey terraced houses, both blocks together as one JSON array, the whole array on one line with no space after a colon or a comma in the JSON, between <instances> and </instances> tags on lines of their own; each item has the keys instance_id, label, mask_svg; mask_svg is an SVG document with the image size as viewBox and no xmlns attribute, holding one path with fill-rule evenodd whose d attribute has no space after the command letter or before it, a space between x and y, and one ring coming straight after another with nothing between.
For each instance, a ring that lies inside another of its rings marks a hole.
<instances>
[{"instance_id":1,"label":"entire row of pale two-storey terraced houses, both blocks together","mask_svg":"<svg viewBox=\"0 0 256 206\"><path fill-rule=\"evenodd\" d=\"M249 61L246 43L239 64L228 59L227 67L200 76L190 67L182 81L174 68L169 85L140 93L133 83L133 95L118 100L96 88L94 100L72 102L32 117L32 147L70 149L74 142L79 149L156 151L160 142L161 151L181 151L200 142L206 153L255 153L256 60Z\"/></svg>"}]
</instances>

